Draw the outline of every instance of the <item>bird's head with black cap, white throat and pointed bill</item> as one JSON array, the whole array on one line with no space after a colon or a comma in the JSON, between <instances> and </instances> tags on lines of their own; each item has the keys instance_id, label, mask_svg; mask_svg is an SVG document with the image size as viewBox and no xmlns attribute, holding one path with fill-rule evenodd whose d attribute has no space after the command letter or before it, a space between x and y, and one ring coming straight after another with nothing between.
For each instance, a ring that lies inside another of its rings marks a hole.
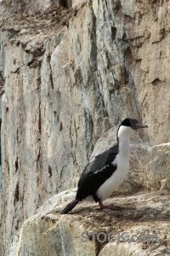
<instances>
[{"instance_id":1,"label":"bird's head with black cap, white throat and pointed bill","mask_svg":"<svg viewBox=\"0 0 170 256\"><path fill-rule=\"evenodd\" d=\"M130 135L133 130L148 128L147 125L140 125L137 119L124 119L118 129L118 137L121 135Z\"/></svg>"}]
</instances>

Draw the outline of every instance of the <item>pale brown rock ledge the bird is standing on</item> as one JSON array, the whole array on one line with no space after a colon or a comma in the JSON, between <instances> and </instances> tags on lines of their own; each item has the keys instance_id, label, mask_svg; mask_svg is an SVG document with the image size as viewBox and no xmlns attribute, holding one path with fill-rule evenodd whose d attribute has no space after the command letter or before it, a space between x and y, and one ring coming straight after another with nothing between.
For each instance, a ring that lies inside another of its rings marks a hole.
<instances>
[{"instance_id":1,"label":"pale brown rock ledge the bird is standing on","mask_svg":"<svg viewBox=\"0 0 170 256\"><path fill-rule=\"evenodd\" d=\"M122 211L101 210L96 204L79 204L59 215L63 201L74 191L55 195L28 218L15 237L12 255L168 255L170 196L142 192L119 196L108 203ZM59 204L59 205L58 205ZM58 206L57 206L58 205Z\"/></svg>"}]
</instances>

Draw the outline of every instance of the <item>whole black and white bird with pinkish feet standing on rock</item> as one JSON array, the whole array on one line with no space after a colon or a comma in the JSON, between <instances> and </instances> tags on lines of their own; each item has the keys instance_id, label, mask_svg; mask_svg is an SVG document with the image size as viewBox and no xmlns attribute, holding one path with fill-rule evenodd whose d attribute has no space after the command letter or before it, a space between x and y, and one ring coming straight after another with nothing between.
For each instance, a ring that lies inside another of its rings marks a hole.
<instances>
[{"instance_id":1,"label":"whole black and white bird with pinkish feet standing on rock","mask_svg":"<svg viewBox=\"0 0 170 256\"><path fill-rule=\"evenodd\" d=\"M136 119L124 119L119 126L116 139L117 144L104 153L95 157L88 164L78 182L76 199L71 201L61 214L70 212L77 203L82 200L99 202L99 207L120 210L120 207L104 205L115 189L126 179L129 170L129 136L133 130L147 128L147 125L139 125Z\"/></svg>"}]
</instances>

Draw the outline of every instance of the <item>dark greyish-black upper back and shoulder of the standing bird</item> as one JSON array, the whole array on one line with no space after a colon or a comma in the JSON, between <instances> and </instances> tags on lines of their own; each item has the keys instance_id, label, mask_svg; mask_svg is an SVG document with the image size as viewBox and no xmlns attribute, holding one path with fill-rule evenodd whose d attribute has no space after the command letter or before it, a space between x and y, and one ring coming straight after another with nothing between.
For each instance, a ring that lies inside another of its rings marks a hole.
<instances>
[{"instance_id":1,"label":"dark greyish-black upper back and shoulder of the standing bird","mask_svg":"<svg viewBox=\"0 0 170 256\"><path fill-rule=\"evenodd\" d=\"M116 154L118 153L118 146L113 146L103 152L102 154L98 154L95 159L85 167L82 172L82 175L78 182L78 187L82 183L83 179L87 176L88 172L95 172L101 170L103 167L110 165L111 162L116 158Z\"/></svg>"}]
</instances>

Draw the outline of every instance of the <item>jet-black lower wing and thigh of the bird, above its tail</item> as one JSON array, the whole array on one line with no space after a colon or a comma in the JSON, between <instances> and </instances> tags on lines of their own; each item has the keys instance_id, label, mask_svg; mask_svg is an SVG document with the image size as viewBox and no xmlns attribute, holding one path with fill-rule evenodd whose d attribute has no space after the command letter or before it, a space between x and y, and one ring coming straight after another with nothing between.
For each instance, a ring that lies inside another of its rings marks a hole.
<instances>
[{"instance_id":1,"label":"jet-black lower wing and thigh of the bird, above its tail","mask_svg":"<svg viewBox=\"0 0 170 256\"><path fill-rule=\"evenodd\" d=\"M82 199L85 199L88 195L92 195L95 201L99 201L96 191L115 171L116 166L110 164L98 171L88 172L79 183L76 199L82 201Z\"/></svg>"}]
</instances>

